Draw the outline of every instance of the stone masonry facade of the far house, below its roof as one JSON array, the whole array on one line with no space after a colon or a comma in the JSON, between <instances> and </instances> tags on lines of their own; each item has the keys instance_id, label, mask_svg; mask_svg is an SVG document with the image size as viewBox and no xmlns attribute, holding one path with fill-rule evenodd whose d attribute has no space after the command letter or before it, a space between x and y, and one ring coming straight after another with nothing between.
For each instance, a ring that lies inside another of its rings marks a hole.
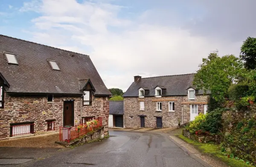
<instances>
[{"instance_id":1,"label":"stone masonry facade of the far house, below its roof","mask_svg":"<svg viewBox=\"0 0 256 167\"><path fill-rule=\"evenodd\" d=\"M124 125L125 128L140 127L140 116L146 115L145 127L156 127L157 116L162 117L163 127L175 127L182 123L182 107L183 107L183 123L190 121L190 104L181 104L181 102L207 102L207 95L196 95L195 100L188 100L187 96L163 96L155 97L131 97L124 98ZM140 101L144 99L144 110L140 110ZM162 101L162 112L157 112L157 101L154 99L177 99L175 102L175 112L169 112L169 102ZM198 104L198 113L204 113L204 104ZM130 119L133 116L133 119Z\"/></svg>"}]
</instances>

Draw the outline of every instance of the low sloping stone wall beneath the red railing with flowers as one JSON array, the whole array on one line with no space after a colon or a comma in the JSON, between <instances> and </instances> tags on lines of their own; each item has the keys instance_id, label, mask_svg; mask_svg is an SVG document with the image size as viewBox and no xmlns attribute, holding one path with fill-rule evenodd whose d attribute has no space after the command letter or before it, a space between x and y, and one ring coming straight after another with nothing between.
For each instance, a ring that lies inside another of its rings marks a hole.
<instances>
[{"instance_id":1,"label":"low sloping stone wall beneath the red railing with flowers","mask_svg":"<svg viewBox=\"0 0 256 167\"><path fill-rule=\"evenodd\" d=\"M61 144L65 147L73 147L88 143L90 141L96 141L102 138L104 138L104 127L99 127L96 130L88 132L87 134L82 135L79 138L74 139L73 141L70 141L70 143L62 141L57 141L56 143Z\"/></svg>"}]
</instances>

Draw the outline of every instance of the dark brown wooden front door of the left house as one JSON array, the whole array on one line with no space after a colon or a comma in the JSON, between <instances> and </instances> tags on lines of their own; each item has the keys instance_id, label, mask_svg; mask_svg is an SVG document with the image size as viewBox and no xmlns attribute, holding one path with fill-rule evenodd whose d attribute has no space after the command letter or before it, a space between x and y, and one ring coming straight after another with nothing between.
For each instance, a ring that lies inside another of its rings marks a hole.
<instances>
[{"instance_id":1,"label":"dark brown wooden front door of the left house","mask_svg":"<svg viewBox=\"0 0 256 167\"><path fill-rule=\"evenodd\" d=\"M64 101L64 127L65 126L74 126L74 110L73 110L73 101Z\"/></svg>"}]
</instances>

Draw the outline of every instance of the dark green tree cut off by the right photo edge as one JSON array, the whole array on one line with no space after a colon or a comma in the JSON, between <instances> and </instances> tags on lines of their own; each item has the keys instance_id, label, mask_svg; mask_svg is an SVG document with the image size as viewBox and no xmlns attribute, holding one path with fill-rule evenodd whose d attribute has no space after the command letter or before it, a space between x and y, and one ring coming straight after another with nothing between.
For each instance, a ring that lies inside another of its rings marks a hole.
<instances>
[{"instance_id":1,"label":"dark green tree cut off by the right photo edge","mask_svg":"<svg viewBox=\"0 0 256 167\"><path fill-rule=\"evenodd\" d=\"M256 68L256 38L247 37L241 46L240 58L244 60L245 68Z\"/></svg>"}]
</instances>

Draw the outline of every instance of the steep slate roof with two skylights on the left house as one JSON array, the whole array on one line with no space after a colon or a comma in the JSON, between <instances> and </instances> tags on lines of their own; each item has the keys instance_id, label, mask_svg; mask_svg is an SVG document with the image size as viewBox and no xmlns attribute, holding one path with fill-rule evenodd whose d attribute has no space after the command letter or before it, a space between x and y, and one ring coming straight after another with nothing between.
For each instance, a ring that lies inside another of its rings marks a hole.
<instances>
[{"instance_id":1,"label":"steep slate roof with two skylights on the left house","mask_svg":"<svg viewBox=\"0 0 256 167\"><path fill-rule=\"evenodd\" d=\"M3 52L14 53L19 65L7 64ZM48 60L55 60L60 71ZM10 85L7 92L81 94L79 80L90 79L95 95L111 95L88 55L5 35L0 35L0 74Z\"/></svg>"}]
</instances>

